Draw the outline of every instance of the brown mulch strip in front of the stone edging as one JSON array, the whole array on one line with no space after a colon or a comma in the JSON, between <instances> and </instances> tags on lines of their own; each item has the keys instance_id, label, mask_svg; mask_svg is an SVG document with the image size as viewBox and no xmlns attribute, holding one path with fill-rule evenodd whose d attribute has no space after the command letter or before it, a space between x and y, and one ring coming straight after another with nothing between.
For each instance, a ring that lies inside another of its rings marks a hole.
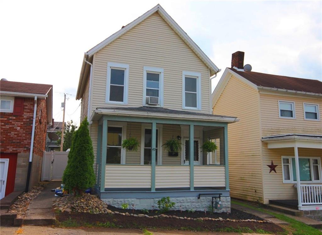
<instances>
[{"instance_id":1,"label":"brown mulch strip in front of the stone edging","mask_svg":"<svg viewBox=\"0 0 322 235\"><path fill-rule=\"evenodd\" d=\"M76 212L62 212L56 216L57 221L64 222L73 220L79 226L88 227L89 224L93 226L99 223L111 223L116 228L132 228L132 229L166 229L166 230L192 230L192 231L220 231L227 228L238 229L247 227L253 231L265 230L270 233L280 233L284 230L273 223L253 223L253 222L229 222L229 221L189 221L181 219L170 218L146 218L133 217L123 215L111 214L90 214L90 213L76 213Z\"/></svg>"}]
</instances>

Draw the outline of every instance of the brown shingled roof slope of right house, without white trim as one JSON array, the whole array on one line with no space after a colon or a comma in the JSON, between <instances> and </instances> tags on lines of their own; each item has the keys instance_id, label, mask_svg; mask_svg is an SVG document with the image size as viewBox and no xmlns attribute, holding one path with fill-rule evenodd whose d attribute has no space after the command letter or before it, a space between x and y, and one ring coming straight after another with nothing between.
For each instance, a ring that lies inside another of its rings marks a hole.
<instances>
[{"instance_id":1,"label":"brown shingled roof slope of right house, without white trim","mask_svg":"<svg viewBox=\"0 0 322 235\"><path fill-rule=\"evenodd\" d=\"M322 94L322 82L319 80L229 69L257 86Z\"/></svg>"}]
</instances>

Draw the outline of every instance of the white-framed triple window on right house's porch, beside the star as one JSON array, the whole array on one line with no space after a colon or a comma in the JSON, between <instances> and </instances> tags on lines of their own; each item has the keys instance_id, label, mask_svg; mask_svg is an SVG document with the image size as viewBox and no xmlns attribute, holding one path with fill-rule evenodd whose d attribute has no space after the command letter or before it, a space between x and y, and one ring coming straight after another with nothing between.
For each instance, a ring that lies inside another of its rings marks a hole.
<instances>
[{"instance_id":1,"label":"white-framed triple window on right house's porch, beside the star","mask_svg":"<svg viewBox=\"0 0 322 235\"><path fill-rule=\"evenodd\" d=\"M298 158L300 181L305 182L320 182L321 181L321 164L319 158L314 157L299 157ZM296 165L294 157L282 158L282 173L284 183L295 183Z\"/></svg>"}]
</instances>

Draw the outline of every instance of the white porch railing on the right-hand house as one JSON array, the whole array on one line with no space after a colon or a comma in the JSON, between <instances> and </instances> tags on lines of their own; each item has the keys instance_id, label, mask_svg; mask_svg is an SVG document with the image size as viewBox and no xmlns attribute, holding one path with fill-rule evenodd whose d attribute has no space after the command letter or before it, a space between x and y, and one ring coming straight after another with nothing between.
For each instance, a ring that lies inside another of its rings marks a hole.
<instances>
[{"instance_id":1,"label":"white porch railing on the right-hand house","mask_svg":"<svg viewBox=\"0 0 322 235\"><path fill-rule=\"evenodd\" d=\"M322 205L322 184L301 184L302 205Z\"/></svg>"}]
</instances>

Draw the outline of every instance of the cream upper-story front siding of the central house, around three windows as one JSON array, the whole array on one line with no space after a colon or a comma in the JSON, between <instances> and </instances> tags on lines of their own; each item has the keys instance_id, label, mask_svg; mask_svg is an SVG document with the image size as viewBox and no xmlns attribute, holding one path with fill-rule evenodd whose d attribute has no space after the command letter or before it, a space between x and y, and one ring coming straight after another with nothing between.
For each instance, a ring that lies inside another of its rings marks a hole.
<instances>
[{"instance_id":1,"label":"cream upper-story front siding of the central house, around three windows","mask_svg":"<svg viewBox=\"0 0 322 235\"><path fill-rule=\"evenodd\" d=\"M201 73L202 110L210 112L209 70L155 13L94 55L92 110L105 103L107 62L129 65L128 106L142 106L143 66L164 69L164 108L182 109L182 71Z\"/></svg>"}]
</instances>

